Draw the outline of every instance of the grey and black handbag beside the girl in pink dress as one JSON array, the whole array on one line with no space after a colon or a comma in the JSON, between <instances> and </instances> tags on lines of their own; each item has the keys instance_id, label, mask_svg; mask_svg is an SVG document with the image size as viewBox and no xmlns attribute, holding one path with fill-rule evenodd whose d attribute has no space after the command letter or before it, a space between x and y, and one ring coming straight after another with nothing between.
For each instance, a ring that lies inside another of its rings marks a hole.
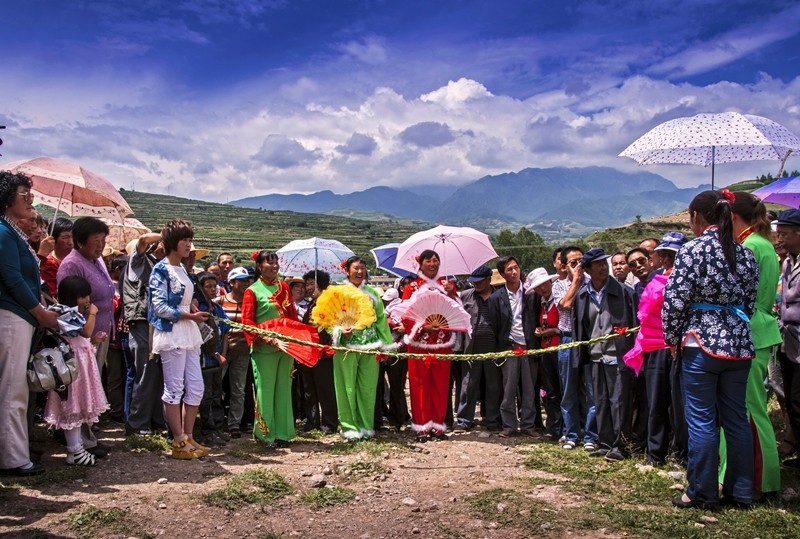
<instances>
[{"instance_id":1,"label":"grey and black handbag beside the girl in pink dress","mask_svg":"<svg viewBox=\"0 0 800 539\"><path fill-rule=\"evenodd\" d=\"M69 342L55 330L37 329L28 360L28 388L35 393L57 391L64 398L77 377L78 361Z\"/></svg>"}]
</instances>

